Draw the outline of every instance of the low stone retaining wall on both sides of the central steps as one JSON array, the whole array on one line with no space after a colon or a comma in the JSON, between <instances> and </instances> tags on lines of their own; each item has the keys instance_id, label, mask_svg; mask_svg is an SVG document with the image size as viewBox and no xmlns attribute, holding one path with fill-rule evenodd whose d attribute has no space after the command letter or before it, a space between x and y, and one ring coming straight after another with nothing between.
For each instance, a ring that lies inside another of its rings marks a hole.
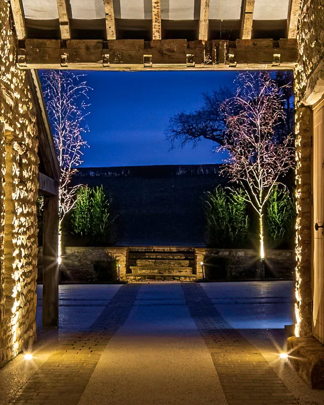
<instances>
[{"instance_id":1,"label":"low stone retaining wall on both sides of the central steps","mask_svg":"<svg viewBox=\"0 0 324 405\"><path fill-rule=\"evenodd\" d=\"M134 249L134 248L132 248ZM137 248L140 249L140 248ZM175 251L177 247L156 247L159 251ZM200 262L204 262L204 275L208 280L259 279L261 277L258 255L249 249L204 249L195 251L193 273L203 277ZM61 281L107 282L126 280L128 252L123 247L68 247L62 258ZM295 256L293 251L267 251L265 278L294 279ZM38 282L42 280L42 248L38 253Z\"/></svg>"}]
</instances>

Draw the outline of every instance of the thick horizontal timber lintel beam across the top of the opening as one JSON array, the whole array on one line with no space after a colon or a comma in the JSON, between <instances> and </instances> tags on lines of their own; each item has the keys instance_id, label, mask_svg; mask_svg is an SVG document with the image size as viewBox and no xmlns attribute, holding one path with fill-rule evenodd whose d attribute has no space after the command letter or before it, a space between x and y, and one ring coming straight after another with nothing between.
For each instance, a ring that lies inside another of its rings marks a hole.
<instances>
[{"instance_id":1,"label":"thick horizontal timber lintel beam across the top of the opening","mask_svg":"<svg viewBox=\"0 0 324 405\"><path fill-rule=\"evenodd\" d=\"M152 68L238 68L244 65L288 66L297 61L296 39L237 39L236 41L186 41L186 39L111 39L61 42L58 39L26 39L17 64L21 68L143 69L145 57ZM278 57L280 55L279 64ZM23 61L23 63L19 63ZM63 62L64 63L63 63ZM292 67L292 66L291 66Z\"/></svg>"}]
</instances>

